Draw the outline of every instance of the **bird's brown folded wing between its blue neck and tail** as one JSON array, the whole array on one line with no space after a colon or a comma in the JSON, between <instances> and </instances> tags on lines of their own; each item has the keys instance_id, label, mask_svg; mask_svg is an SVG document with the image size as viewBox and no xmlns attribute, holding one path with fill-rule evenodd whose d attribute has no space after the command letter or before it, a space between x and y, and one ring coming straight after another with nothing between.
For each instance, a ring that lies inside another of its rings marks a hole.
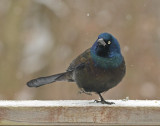
<instances>
[{"instance_id":1,"label":"bird's brown folded wing between its blue neck and tail","mask_svg":"<svg viewBox=\"0 0 160 126\"><path fill-rule=\"evenodd\" d=\"M72 61L67 71L74 71L77 68L83 68L90 58L91 56L90 56L90 48L89 48Z\"/></svg>"}]
</instances>

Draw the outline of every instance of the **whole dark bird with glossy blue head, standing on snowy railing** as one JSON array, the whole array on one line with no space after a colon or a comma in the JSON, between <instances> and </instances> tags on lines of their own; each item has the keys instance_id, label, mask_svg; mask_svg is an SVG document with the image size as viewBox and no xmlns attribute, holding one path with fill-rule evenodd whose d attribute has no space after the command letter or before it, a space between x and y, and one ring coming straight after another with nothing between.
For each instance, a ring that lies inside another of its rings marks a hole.
<instances>
[{"instance_id":1,"label":"whole dark bird with glossy blue head, standing on snowy railing","mask_svg":"<svg viewBox=\"0 0 160 126\"><path fill-rule=\"evenodd\" d=\"M40 87L56 81L76 82L84 93L96 93L97 103L112 105L101 93L115 87L126 73L124 57L118 40L110 33L101 33L91 48L75 58L68 69L59 74L40 77L27 82L29 87Z\"/></svg>"}]
</instances>

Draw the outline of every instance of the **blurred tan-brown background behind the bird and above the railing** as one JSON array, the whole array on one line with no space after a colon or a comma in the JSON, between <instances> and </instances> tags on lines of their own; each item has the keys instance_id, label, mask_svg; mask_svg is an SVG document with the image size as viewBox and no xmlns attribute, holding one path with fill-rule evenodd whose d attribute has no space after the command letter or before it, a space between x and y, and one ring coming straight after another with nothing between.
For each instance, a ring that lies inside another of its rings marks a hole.
<instances>
[{"instance_id":1,"label":"blurred tan-brown background behind the bird and above the railing","mask_svg":"<svg viewBox=\"0 0 160 126\"><path fill-rule=\"evenodd\" d=\"M105 99L160 98L159 0L0 0L0 99L98 99L75 83L29 88L63 72L102 32L120 42L127 73Z\"/></svg>"}]
</instances>

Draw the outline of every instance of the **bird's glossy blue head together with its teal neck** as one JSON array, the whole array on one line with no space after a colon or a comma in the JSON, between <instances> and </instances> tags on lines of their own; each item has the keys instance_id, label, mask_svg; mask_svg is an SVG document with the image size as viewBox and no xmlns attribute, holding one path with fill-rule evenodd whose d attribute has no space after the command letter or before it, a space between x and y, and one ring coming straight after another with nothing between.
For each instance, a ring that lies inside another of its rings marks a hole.
<instances>
[{"instance_id":1,"label":"bird's glossy blue head together with its teal neck","mask_svg":"<svg viewBox=\"0 0 160 126\"><path fill-rule=\"evenodd\" d=\"M117 39L109 33L98 36L91 47L91 56L95 63L105 67L118 66L123 60Z\"/></svg>"}]
</instances>

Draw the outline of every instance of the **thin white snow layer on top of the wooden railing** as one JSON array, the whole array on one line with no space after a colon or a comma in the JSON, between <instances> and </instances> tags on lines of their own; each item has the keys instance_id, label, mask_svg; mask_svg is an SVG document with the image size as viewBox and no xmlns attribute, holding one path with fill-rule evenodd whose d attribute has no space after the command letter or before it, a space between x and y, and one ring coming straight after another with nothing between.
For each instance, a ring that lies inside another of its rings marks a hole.
<instances>
[{"instance_id":1,"label":"thin white snow layer on top of the wooden railing","mask_svg":"<svg viewBox=\"0 0 160 126\"><path fill-rule=\"evenodd\" d=\"M0 107L56 107L56 106L110 106L110 107L160 107L160 100L107 100L113 105L96 103L94 100L1 100Z\"/></svg>"}]
</instances>

